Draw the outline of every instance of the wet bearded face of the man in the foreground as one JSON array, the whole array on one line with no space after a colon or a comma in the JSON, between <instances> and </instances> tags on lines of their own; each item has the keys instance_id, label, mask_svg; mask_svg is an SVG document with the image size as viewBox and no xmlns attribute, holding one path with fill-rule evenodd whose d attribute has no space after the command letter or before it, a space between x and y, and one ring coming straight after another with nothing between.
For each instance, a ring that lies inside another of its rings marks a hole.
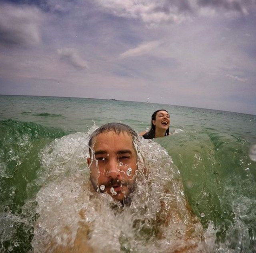
<instances>
[{"instance_id":1,"label":"wet bearded face of the man in the foreground","mask_svg":"<svg viewBox=\"0 0 256 253\"><path fill-rule=\"evenodd\" d=\"M100 189L117 201L123 201L134 187L137 169L132 137L126 132L100 133L92 140L92 149L94 152L87 163L95 191Z\"/></svg>"}]
</instances>

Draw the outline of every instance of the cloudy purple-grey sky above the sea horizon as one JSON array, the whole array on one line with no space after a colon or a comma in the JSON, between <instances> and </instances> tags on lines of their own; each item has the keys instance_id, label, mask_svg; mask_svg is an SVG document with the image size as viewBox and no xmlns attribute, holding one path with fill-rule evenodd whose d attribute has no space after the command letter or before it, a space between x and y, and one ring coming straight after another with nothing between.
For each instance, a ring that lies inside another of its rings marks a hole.
<instances>
[{"instance_id":1,"label":"cloudy purple-grey sky above the sea horizon","mask_svg":"<svg viewBox=\"0 0 256 253\"><path fill-rule=\"evenodd\" d=\"M0 94L256 114L256 0L0 5Z\"/></svg>"}]
</instances>

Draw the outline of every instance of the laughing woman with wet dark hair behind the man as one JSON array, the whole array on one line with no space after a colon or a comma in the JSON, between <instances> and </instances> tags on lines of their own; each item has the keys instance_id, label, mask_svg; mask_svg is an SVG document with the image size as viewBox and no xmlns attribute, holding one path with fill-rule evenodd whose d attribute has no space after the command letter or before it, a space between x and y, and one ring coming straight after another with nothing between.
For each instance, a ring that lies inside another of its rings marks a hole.
<instances>
[{"instance_id":1,"label":"laughing woman with wet dark hair behind the man","mask_svg":"<svg viewBox=\"0 0 256 253\"><path fill-rule=\"evenodd\" d=\"M151 128L140 133L144 139L153 139L169 135L170 115L166 110L157 110L151 116Z\"/></svg>"}]
</instances>

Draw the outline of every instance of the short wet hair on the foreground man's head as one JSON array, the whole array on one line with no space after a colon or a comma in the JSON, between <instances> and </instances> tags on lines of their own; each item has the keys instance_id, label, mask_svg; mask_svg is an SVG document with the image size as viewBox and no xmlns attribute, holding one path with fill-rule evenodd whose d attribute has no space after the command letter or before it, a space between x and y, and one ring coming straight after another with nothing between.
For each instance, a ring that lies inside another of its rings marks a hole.
<instances>
[{"instance_id":1,"label":"short wet hair on the foreground man's head","mask_svg":"<svg viewBox=\"0 0 256 253\"><path fill-rule=\"evenodd\" d=\"M105 124L99 128L97 128L91 135L90 135L90 139L88 142L88 146L89 146L89 152L91 155L91 148L92 148L92 141L93 138L98 136L100 133L107 133L110 131L114 131L115 133L119 134L121 132L123 133L128 133L132 136L132 140L135 139L135 137L138 136L138 134L132 129L132 127L123 124L123 123L117 123L117 122L112 122L112 123L108 123Z\"/></svg>"}]
</instances>

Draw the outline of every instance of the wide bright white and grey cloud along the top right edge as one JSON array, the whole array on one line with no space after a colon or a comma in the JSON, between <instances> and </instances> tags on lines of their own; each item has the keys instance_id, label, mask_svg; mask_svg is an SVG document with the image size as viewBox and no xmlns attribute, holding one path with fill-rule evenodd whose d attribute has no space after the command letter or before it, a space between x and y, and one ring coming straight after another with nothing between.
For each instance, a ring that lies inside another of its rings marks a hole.
<instances>
[{"instance_id":1,"label":"wide bright white and grey cloud along the top right edge","mask_svg":"<svg viewBox=\"0 0 256 253\"><path fill-rule=\"evenodd\" d=\"M255 0L96 0L114 16L140 19L149 26L180 23L196 14L218 14L219 10L246 15L255 11Z\"/></svg>"}]
</instances>

